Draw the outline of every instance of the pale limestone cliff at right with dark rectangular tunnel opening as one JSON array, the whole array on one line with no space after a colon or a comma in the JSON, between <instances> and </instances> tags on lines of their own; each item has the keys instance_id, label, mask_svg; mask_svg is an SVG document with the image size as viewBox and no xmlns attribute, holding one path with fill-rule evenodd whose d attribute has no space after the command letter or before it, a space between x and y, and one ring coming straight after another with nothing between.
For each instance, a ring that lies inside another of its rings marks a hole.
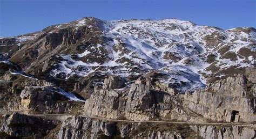
<instances>
[{"instance_id":1,"label":"pale limestone cliff at right with dark rectangular tunnel opening","mask_svg":"<svg viewBox=\"0 0 256 139\"><path fill-rule=\"evenodd\" d=\"M204 118L226 122L255 122L255 82L243 75L212 83L204 91L186 92L184 106Z\"/></svg>"}]
</instances>

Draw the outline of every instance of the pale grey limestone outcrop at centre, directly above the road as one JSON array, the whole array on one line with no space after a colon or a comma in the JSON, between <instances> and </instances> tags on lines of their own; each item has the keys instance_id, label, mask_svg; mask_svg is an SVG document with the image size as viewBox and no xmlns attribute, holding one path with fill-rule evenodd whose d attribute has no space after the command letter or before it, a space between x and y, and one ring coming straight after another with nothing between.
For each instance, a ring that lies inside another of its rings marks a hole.
<instances>
[{"instance_id":1,"label":"pale grey limestone outcrop at centre, directly above the road","mask_svg":"<svg viewBox=\"0 0 256 139\"><path fill-rule=\"evenodd\" d=\"M133 83L130 90L96 90L86 100L84 114L110 119L149 120L170 113L177 104L177 96L150 90L144 83Z\"/></svg>"}]
</instances>

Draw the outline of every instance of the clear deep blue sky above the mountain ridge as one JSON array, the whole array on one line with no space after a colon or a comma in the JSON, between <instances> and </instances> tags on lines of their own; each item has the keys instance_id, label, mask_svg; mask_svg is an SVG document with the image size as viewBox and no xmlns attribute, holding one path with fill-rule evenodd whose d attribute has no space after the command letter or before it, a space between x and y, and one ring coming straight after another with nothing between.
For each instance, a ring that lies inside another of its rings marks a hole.
<instances>
[{"instance_id":1,"label":"clear deep blue sky above the mountain ridge","mask_svg":"<svg viewBox=\"0 0 256 139\"><path fill-rule=\"evenodd\" d=\"M83 17L190 20L228 29L256 26L256 0L0 0L0 36L42 30Z\"/></svg>"}]
</instances>

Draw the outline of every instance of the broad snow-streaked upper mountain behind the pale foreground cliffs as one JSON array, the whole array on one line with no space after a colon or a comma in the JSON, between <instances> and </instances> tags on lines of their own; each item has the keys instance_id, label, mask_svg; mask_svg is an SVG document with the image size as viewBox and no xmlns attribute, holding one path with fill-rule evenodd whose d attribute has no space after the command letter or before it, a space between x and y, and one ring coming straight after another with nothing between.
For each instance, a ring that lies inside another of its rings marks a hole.
<instances>
[{"instance_id":1,"label":"broad snow-streaked upper mountain behind the pale foreground cliffs","mask_svg":"<svg viewBox=\"0 0 256 139\"><path fill-rule=\"evenodd\" d=\"M255 28L221 30L179 19L83 18L0 39L0 52L38 78L88 84L119 75L129 86L153 75L179 92L255 67L255 51Z\"/></svg>"}]
</instances>

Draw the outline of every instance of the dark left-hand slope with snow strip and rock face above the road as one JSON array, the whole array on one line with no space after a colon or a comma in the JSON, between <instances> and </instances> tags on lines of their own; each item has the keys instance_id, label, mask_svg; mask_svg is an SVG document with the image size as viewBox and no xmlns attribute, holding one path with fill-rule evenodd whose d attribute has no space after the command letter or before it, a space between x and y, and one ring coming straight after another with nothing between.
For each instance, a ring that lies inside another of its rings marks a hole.
<instances>
[{"instance_id":1,"label":"dark left-hand slope with snow strip and rock face above the road","mask_svg":"<svg viewBox=\"0 0 256 139\"><path fill-rule=\"evenodd\" d=\"M84 104L82 98L56 84L26 74L17 64L0 58L3 65L0 77L3 79L0 81L1 113L80 113L78 109L82 109Z\"/></svg>"}]
</instances>

